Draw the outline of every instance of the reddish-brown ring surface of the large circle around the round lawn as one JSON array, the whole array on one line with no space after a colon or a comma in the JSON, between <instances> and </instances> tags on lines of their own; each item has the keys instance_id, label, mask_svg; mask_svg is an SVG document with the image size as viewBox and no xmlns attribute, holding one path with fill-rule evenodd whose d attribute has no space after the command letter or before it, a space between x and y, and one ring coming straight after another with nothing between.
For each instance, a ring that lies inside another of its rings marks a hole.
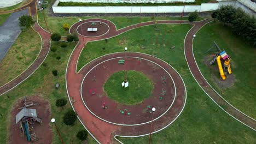
<instances>
[{"instance_id":1,"label":"reddish-brown ring surface of the large circle around the round lawn","mask_svg":"<svg viewBox=\"0 0 256 144\"><path fill-rule=\"evenodd\" d=\"M157 110L154 118L160 117L170 108L174 101L175 93L174 83L170 77L172 74L170 73L169 75L168 73L170 71L167 73L161 68L163 67L162 63L164 62L159 61L159 59L152 56L144 55L143 53L129 52L127 54L127 70L139 71L153 81L154 89L150 97L136 105L119 104L116 101L109 99L103 90L104 83L110 75L125 69L124 64L118 64L119 59L124 59L124 55L123 57L119 56L119 58L110 56L111 59L108 58L109 56L110 55L98 58L87 65L88 67L90 67L90 65L96 65L95 67L92 67L92 69L88 68L89 73L86 74L82 85L82 97L84 103L92 113L110 123L132 125L147 123L152 120L152 114L147 111L148 105L155 107ZM138 58L142 58L141 62L138 62ZM146 59L149 59L149 61ZM153 62L159 64L161 67ZM166 84L162 83L161 76L165 76ZM132 85L132 82L129 82L129 85ZM96 94L92 95L91 91L94 91L94 89L96 89ZM162 89L164 89L164 91L166 90L166 92L163 99L160 100ZM102 109L102 103L105 103L108 106L108 109ZM128 116L125 115L125 113L120 112L125 109L127 112L131 112L131 115Z\"/></svg>"}]
</instances>

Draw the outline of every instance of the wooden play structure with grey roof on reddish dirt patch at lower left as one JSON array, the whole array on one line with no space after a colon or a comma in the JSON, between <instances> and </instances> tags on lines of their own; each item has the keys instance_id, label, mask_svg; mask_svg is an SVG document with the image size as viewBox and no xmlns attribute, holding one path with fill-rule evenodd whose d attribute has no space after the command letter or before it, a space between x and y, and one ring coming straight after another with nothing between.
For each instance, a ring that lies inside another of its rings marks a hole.
<instances>
[{"instance_id":1,"label":"wooden play structure with grey roof on reddish dirt patch at lower left","mask_svg":"<svg viewBox=\"0 0 256 144\"><path fill-rule=\"evenodd\" d=\"M19 123L21 136L26 136L27 141L36 141L37 136L34 131L34 122L42 124L42 118L37 116L36 109L27 109L27 107L37 105L38 103L24 97L22 101L22 107L19 108L21 111L16 115L16 124Z\"/></svg>"}]
</instances>

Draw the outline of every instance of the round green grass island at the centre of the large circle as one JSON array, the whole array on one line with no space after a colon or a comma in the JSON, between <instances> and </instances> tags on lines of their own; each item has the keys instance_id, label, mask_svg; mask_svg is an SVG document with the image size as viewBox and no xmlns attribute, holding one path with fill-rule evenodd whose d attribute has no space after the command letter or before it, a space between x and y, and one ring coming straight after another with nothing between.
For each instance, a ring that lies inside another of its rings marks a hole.
<instances>
[{"instance_id":1,"label":"round green grass island at the centre of the large circle","mask_svg":"<svg viewBox=\"0 0 256 144\"><path fill-rule=\"evenodd\" d=\"M125 71L118 71L111 75L104 84L104 91L108 97L120 104L134 105L141 103L150 96L153 89L153 82L138 71L127 70L127 81L129 87L121 87L125 79ZM138 81L139 80L139 81Z\"/></svg>"}]
</instances>

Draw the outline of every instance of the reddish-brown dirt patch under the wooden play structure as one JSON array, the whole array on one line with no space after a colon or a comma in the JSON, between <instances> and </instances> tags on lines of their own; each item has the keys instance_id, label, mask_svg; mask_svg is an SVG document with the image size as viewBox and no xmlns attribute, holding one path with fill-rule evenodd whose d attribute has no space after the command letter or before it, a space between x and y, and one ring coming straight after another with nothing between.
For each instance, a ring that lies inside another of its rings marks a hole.
<instances>
[{"instance_id":1,"label":"reddish-brown dirt patch under the wooden play structure","mask_svg":"<svg viewBox=\"0 0 256 144\"><path fill-rule=\"evenodd\" d=\"M21 137L19 123L16 124L15 116L20 112L19 107L22 107L22 101L20 99L11 111L10 129L9 129L9 143L51 143L53 140L53 131L49 125L50 109L48 101L43 100L39 96L27 97L29 100L36 101L38 105L28 107L29 109L36 109L37 116L42 118L43 124L40 125L38 122L34 122L34 131L38 137L38 141L28 142L26 136Z\"/></svg>"}]
</instances>

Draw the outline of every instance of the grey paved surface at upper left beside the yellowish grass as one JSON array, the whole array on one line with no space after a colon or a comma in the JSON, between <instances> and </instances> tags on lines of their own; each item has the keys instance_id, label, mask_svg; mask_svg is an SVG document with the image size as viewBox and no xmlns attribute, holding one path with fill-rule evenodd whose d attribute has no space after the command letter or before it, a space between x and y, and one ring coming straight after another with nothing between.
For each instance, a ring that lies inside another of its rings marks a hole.
<instances>
[{"instance_id":1,"label":"grey paved surface at upper left beside the yellowish grass","mask_svg":"<svg viewBox=\"0 0 256 144\"><path fill-rule=\"evenodd\" d=\"M28 14L30 14L29 9L16 11L10 14L8 19L0 26L0 62L21 32L18 20L19 17Z\"/></svg>"}]
</instances>

